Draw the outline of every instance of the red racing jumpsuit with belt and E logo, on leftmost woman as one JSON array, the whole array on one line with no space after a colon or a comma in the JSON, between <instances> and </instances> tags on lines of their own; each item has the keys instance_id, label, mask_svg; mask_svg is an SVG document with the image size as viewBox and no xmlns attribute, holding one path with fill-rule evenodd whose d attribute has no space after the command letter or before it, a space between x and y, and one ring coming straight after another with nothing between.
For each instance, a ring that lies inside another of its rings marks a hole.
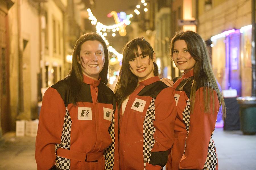
<instances>
[{"instance_id":1,"label":"red racing jumpsuit with belt and E logo, on leftmost woman","mask_svg":"<svg viewBox=\"0 0 256 170\"><path fill-rule=\"evenodd\" d=\"M54 164L63 170L119 169L115 95L101 79L83 79L76 106L67 79L45 92L36 137L37 169Z\"/></svg>"}]
</instances>

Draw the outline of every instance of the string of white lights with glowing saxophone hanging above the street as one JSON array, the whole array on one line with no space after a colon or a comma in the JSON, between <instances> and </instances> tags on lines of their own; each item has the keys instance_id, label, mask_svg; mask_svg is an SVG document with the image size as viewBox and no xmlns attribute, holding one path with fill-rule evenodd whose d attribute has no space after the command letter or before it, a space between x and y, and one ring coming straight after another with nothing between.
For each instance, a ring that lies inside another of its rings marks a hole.
<instances>
[{"instance_id":1,"label":"string of white lights with glowing saxophone hanging above the street","mask_svg":"<svg viewBox=\"0 0 256 170\"><path fill-rule=\"evenodd\" d=\"M146 8L146 6L147 6L147 3L145 2L145 0L141 0L140 3L136 5L136 8L134 9L134 13L139 15L141 13L139 9L143 7L144 7L143 9L144 12L147 12L148 8ZM108 17L113 16L116 24L104 25L101 22L98 22L97 18L93 15L90 8L87 9L87 12L89 16L88 19L91 20L91 24L95 25L96 32L104 39L107 45L109 45L109 42L106 39L106 36L108 35L108 33L112 31L112 37L115 37L116 36L115 32L119 31L119 34L121 36L125 36L126 35L125 27L126 25L131 24L130 18L133 17L133 14L127 15L125 12L120 12L118 15L115 11L112 11L110 14L108 14ZM111 45L108 46L108 50L113 54L115 54L115 56L117 56L117 60L119 62L122 60L123 55L117 52L115 48L113 48Z\"/></svg>"}]
</instances>

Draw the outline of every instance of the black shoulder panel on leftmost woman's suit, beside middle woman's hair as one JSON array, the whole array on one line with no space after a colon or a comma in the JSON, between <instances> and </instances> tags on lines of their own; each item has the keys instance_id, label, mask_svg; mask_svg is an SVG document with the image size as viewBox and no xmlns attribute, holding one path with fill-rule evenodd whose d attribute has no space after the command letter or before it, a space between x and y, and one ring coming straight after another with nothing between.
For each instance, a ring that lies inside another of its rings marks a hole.
<instances>
[{"instance_id":1,"label":"black shoulder panel on leftmost woman's suit, beside middle woman's hair","mask_svg":"<svg viewBox=\"0 0 256 170\"><path fill-rule=\"evenodd\" d=\"M98 102L112 104L113 109L115 110L116 99L115 99L114 92L108 86L103 84L102 82L100 82L98 89L99 89Z\"/></svg>"}]
</instances>

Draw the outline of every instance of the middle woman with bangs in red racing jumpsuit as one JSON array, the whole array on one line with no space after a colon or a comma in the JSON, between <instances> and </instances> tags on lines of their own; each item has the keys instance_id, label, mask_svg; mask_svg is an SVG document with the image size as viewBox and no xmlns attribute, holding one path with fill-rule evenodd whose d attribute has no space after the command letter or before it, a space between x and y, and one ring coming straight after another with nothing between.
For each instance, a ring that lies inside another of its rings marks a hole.
<instances>
[{"instance_id":1,"label":"middle woman with bangs in red racing jumpsuit","mask_svg":"<svg viewBox=\"0 0 256 170\"><path fill-rule=\"evenodd\" d=\"M123 48L115 95L119 110L120 169L161 169L174 141L174 89L158 77L156 54L143 38Z\"/></svg>"}]
</instances>

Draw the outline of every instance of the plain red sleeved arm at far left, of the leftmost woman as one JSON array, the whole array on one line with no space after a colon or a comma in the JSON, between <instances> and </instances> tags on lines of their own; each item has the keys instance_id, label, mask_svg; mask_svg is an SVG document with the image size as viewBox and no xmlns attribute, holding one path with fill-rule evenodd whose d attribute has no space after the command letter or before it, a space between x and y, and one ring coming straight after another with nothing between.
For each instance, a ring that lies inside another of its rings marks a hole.
<instances>
[{"instance_id":1,"label":"plain red sleeved arm at far left, of the leftmost woman","mask_svg":"<svg viewBox=\"0 0 256 170\"><path fill-rule=\"evenodd\" d=\"M61 143L65 112L60 94L57 90L49 88L44 94L36 136L37 169L48 170L55 163L55 144Z\"/></svg>"}]
</instances>

